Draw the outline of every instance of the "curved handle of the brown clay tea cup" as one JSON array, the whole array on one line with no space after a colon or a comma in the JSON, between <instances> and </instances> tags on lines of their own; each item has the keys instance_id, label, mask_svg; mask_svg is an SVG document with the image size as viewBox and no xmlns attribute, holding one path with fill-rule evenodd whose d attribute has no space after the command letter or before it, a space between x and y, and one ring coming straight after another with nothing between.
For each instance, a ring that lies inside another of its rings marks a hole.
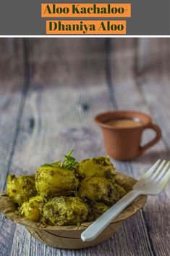
<instances>
[{"instance_id":1,"label":"curved handle of the brown clay tea cup","mask_svg":"<svg viewBox=\"0 0 170 256\"><path fill-rule=\"evenodd\" d=\"M148 124L148 125L143 129L143 131L144 131L145 129L148 129L148 128L151 128L151 129L153 129L154 131L156 131L156 136L155 136L155 138L154 138L152 141L148 142L148 143L145 144L144 146L140 146L139 155L140 155L140 154L143 154L143 152L144 152L146 149L148 149L150 146L153 146L154 144L156 144L156 142L157 142L159 139L161 139L161 129L158 127L158 125L156 125L156 124L154 124L154 123L150 123L150 124Z\"/></svg>"}]
</instances>

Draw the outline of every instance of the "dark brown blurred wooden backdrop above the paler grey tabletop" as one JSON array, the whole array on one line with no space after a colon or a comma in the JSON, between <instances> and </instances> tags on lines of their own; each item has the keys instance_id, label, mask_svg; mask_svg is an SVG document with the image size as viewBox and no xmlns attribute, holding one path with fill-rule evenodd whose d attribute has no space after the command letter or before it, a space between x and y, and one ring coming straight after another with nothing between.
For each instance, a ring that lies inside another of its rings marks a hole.
<instances>
[{"instance_id":1,"label":"dark brown blurred wooden backdrop above the paler grey tabletop","mask_svg":"<svg viewBox=\"0 0 170 256\"><path fill-rule=\"evenodd\" d=\"M170 38L1 38L0 51L0 87L6 90L116 86L118 80L169 75Z\"/></svg>"}]
</instances>

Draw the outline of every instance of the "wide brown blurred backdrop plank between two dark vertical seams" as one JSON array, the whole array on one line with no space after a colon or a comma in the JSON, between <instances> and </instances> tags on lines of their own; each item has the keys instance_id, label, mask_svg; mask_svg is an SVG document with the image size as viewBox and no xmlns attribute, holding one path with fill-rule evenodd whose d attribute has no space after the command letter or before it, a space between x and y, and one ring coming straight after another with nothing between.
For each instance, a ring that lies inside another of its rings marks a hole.
<instances>
[{"instance_id":1,"label":"wide brown blurred backdrop plank between two dark vertical seams","mask_svg":"<svg viewBox=\"0 0 170 256\"><path fill-rule=\"evenodd\" d=\"M31 38L31 81L44 86L103 84L105 38Z\"/></svg>"}]
</instances>

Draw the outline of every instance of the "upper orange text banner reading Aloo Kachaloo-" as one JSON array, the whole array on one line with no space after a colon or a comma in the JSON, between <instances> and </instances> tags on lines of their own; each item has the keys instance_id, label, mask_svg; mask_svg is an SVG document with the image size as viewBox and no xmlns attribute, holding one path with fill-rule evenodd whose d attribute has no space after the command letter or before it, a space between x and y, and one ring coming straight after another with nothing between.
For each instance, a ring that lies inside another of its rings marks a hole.
<instances>
[{"instance_id":1,"label":"upper orange text banner reading Aloo Kachaloo-","mask_svg":"<svg viewBox=\"0 0 170 256\"><path fill-rule=\"evenodd\" d=\"M131 4L41 4L41 17L131 17Z\"/></svg>"}]
</instances>

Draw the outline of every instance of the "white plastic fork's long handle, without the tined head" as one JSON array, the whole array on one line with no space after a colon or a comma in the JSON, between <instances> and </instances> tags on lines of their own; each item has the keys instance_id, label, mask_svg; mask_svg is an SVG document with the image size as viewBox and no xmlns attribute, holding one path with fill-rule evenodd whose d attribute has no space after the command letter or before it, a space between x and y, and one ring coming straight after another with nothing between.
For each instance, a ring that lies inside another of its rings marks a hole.
<instances>
[{"instance_id":1,"label":"white plastic fork's long handle, without the tined head","mask_svg":"<svg viewBox=\"0 0 170 256\"><path fill-rule=\"evenodd\" d=\"M92 225L90 225L81 234L82 241L91 241L95 239L101 232L106 228L106 226L111 223L117 215L119 215L122 210L124 210L131 202L134 201L140 195L140 191L133 189L129 191L122 199L116 202L109 210L107 210L100 218L95 220Z\"/></svg>"}]
</instances>

